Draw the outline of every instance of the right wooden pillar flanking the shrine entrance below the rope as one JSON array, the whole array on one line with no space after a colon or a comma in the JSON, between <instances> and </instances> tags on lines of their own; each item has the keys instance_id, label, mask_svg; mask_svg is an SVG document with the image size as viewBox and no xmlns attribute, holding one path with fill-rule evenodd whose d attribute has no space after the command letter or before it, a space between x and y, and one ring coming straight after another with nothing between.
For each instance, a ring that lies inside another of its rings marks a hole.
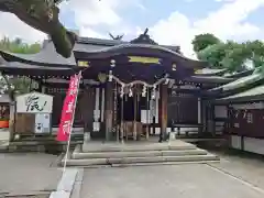
<instances>
[{"instance_id":1,"label":"right wooden pillar flanking the shrine entrance below the rope","mask_svg":"<svg viewBox=\"0 0 264 198\"><path fill-rule=\"evenodd\" d=\"M167 138L167 99L168 99L168 86L161 85L161 134L160 141L163 142Z\"/></svg>"}]
</instances>

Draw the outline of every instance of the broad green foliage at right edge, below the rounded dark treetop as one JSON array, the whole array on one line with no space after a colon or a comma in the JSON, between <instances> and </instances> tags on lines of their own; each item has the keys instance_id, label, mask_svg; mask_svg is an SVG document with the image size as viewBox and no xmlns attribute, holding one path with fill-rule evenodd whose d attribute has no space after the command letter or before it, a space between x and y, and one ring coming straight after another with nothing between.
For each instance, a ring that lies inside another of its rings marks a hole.
<instances>
[{"instance_id":1,"label":"broad green foliage at right edge, below the rounded dark treetop","mask_svg":"<svg viewBox=\"0 0 264 198\"><path fill-rule=\"evenodd\" d=\"M197 35L196 37L202 37L205 34ZM253 67L264 67L264 43L262 41L248 41L244 43L237 43L233 41L221 42L216 44L209 44L205 42L202 45L199 40L199 46L206 46L205 48L197 51L197 57L200 61L206 61L212 68L227 68L230 72L241 72L249 67L249 63L252 63ZM194 46L195 48L195 46ZM196 46L196 48L198 48Z\"/></svg>"}]
</instances>

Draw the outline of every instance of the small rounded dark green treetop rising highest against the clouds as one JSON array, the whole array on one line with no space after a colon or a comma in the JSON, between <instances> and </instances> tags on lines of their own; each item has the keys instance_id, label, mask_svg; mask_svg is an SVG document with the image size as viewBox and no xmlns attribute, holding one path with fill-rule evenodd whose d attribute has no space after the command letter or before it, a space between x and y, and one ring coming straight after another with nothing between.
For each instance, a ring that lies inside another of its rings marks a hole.
<instances>
[{"instance_id":1,"label":"small rounded dark green treetop rising highest against the clouds","mask_svg":"<svg viewBox=\"0 0 264 198\"><path fill-rule=\"evenodd\" d=\"M210 45L215 45L219 43L221 43L221 41L217 36L210 33L196 35L191 42L193 48L196 53L207 48Z\"/></svg>"}]
</instances>

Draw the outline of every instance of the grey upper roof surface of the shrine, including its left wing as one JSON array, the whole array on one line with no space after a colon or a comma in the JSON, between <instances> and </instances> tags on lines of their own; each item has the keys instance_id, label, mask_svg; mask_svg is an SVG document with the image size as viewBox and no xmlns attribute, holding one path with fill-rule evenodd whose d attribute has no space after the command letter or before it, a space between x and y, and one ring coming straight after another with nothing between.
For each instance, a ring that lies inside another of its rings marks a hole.
<instances>
[{"instance_id":1,"label":"grey upper roof surface of the shrine, including its left wing","mask_svg":"<svg viewBox=\"0 0 264 198\"><path fill-rule=\"evenodd\" d=\"M150 45L150 44L131 44L129 42L118 41L118 40L100 40L100 38L84 38L80 37L75 44L74 52L82 52L88 54L96 54L102 52L113 52L116 50L129 47L140 47L153 51L161 51L170 54L172 57L178 57L185 64L190 63L190 67L202 68L207 64L205 62L199 62L195 59L189 59L179 53L178 46L164 46L164 45ZM76 66L76 61L74 53L69 58L64 58L56 53L55 47L51 41L45 41L43 48L37 54L14 54L0 51L0 55L3 56L8 62L22 62L32 65L40 66L59 66L59 67L73 67Z\"/></svg>"}]
</instances>

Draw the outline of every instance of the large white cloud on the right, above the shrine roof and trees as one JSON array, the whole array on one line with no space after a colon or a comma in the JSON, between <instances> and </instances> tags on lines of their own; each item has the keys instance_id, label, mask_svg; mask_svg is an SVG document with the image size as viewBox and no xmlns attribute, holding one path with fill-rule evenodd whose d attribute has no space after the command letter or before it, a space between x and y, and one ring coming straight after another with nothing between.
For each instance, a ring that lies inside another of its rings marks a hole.
<instances>
[{"instance_id":1,"label":"large white cloud on the right, above the shrine roof and trees","mask_svg":"<svg viewBox=\"0 0 264 198\"><path fill-rule=\"evenodd\" d=\"M190 21L186 15L174 12L158 21L151 33L162 44L178 44L184 54L194 57L191 40L200 33L213 33L222 40L252 38L261 33L260 28L245 22L249 14L264 6L264 0L218 0L226 1L217 11L205 19Z\"/></svg>"}]
</instances>

